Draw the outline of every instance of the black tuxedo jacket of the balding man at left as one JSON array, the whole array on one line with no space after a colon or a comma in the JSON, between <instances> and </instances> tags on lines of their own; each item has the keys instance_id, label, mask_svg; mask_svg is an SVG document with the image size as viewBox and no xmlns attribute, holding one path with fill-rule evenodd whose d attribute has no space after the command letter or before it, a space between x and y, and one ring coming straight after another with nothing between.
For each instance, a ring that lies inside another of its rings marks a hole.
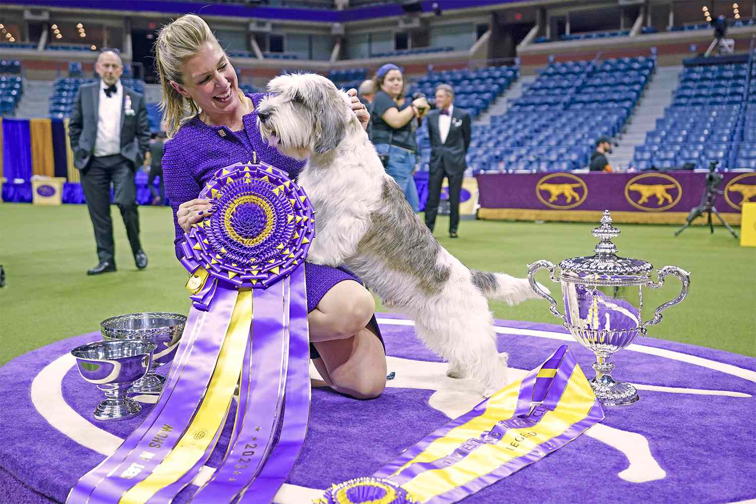
<instances>
[{"instance_id":1,"label":"black tuxedo jacket of the balding man at left","mask_svg":"<svg viewBox=\"0 0 756 504\"><path fill-rule=\"evenodd\" d=\"M100 108L101 81L79 86L73 102L68 129L73 150L73 165L85 169L95 152L97 122ZM134 167L144 161L144 153L150 147L150 122L147 120L147 106L144 96L129 89L121 82L121 155L134 163ZM126 96L131 99L134 113L126 113Z\"/></svg>"}]
</instances>

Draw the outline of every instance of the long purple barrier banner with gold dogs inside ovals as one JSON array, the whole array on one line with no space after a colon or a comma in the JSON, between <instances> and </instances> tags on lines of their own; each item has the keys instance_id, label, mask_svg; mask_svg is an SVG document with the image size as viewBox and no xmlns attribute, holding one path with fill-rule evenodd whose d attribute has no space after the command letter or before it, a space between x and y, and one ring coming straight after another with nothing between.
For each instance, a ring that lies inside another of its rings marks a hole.
<instances>
[{"instance_id":1,"label":"long purple barrier banner with gold dogs inside ovals","mask_svg":"<svg viewBox=\"0 0 756 504\"><path fill-rule=\"evenodd\" d=\"M707 173L532 173L476 175L483 209L689 212L699 206ZM740 213L756 201L756 173L727 172L714 205Z\"/></svg>"}]
</instances>

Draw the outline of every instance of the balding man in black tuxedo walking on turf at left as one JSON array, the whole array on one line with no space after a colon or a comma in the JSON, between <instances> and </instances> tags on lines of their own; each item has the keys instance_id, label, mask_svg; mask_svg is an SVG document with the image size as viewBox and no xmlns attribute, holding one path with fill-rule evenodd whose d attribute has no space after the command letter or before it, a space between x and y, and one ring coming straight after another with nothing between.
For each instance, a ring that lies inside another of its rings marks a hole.
<instances>
[{"instance_id":1,"label":"balding man in black tuxedo walking on turf at left","mask_svg":"<svg viewBox=\"0 0 756 504\"><path fill-rule=\"evenodd\" d=\"M141 270L147 267L147 255L139 241L134 174L150 145L147 107L141 94L121 84L123 63L116 51L103 51L95 70L101 80L79 88L69 123L73 164L81 171L97 242L99 262L87 274L116 271L111 182L135 264Z\"/></svg>"}]
</instances>

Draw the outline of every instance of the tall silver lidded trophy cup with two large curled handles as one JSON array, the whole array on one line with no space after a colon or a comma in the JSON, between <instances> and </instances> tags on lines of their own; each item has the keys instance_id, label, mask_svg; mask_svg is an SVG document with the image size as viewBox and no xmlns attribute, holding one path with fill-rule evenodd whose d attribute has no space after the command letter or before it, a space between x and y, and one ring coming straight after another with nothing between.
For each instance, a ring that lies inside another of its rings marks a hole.
<instances>
[{"instance_id":1,"label":"tall silver lidded trophy cup with two large curled handles","mask_svg":"<svg viewBox=\"0 0 756 504\"><path fill-rule=\"evenodd\" d=\"M621 406L639 397L633 385L612 379L612 355L630 345L637 335L646 335L649 326L661 322L662 311L683 301L690 274L676 266L665 266L657 271L658 281L654 282L651 263L618 257L612 238L619 236L619 230L612 226L609 210L604 212L593 236L601 240L594 249L595 255L565 259L559 263L559 274L550 261L536 261L528 264L528 280L534 291L550 302L551 313L562 319L572 336L596 354L596 376L590 385L601 404ZM549 271L553 282L562 284L565 315L559 313L554 298L536 283L535 274L541 268ZM643 322L643 287L658 289L668 275L683 283L680 294L656 308L652 319Z\"/></svg>"}]
</instances>

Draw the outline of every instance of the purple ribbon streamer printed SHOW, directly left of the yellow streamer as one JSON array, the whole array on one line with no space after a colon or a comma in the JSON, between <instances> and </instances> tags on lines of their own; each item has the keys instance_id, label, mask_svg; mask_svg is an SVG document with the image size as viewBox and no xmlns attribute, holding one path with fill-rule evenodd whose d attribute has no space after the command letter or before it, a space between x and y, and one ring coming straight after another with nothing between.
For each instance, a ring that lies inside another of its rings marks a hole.
<instances>
[{"instance_id":1,"label":"purple ribbon streamer printed SHOW, directly left of the yellow streamer","mask_svg":"<svg viewBox=\"0 0 756 504\"><path fill-rule=\"evenodd\" d=\"M175 382L173 388L163 389L160 396L159 404L162 405L160 413L154 420L153 425L144 431L141 437L134 433L127 438L130 447L129 453L125 456L119 456L122 462L107 473L107 477L101 480L92 490L88 501L92 504L113 504L119 501L126 490L133 487L139 481L143 481L148 475L163 461L170 453L172 448L181 438L184 429L191 422L197 406L200 404L205 394L207 385L215 369L215 363L218 360L223 340L228 331L228 324L231 321L231 313L234 310L235 300L237 298L236 289L227 289L225 286L218 286L218 292L215 295L215 301L212 311L200 317L198 322L201 326L197 329L206 337L197 339L192 353L188 356L187 364L184 366L181 375ZM184 331L194 330L186 327ZM165 399L163 397L165 396ZM157 408L154 408L155 410ZM164 431L163 425L172 426L171 431ZM156 434L163 434L160 439L163 441L156 443L153 441ZM150 446L150 444L160 444L159 447ZM122 445L123 446L123 445ZM153 453L153 450L160 450L151 459L141 459L140 455L144 451ZM116 450L119 453L121 450ZM132 478L122 478L120 475L126 469L138 464L141 471ZM72 501L73 502L73 501Z\"/></svg>"}]
</instances>

